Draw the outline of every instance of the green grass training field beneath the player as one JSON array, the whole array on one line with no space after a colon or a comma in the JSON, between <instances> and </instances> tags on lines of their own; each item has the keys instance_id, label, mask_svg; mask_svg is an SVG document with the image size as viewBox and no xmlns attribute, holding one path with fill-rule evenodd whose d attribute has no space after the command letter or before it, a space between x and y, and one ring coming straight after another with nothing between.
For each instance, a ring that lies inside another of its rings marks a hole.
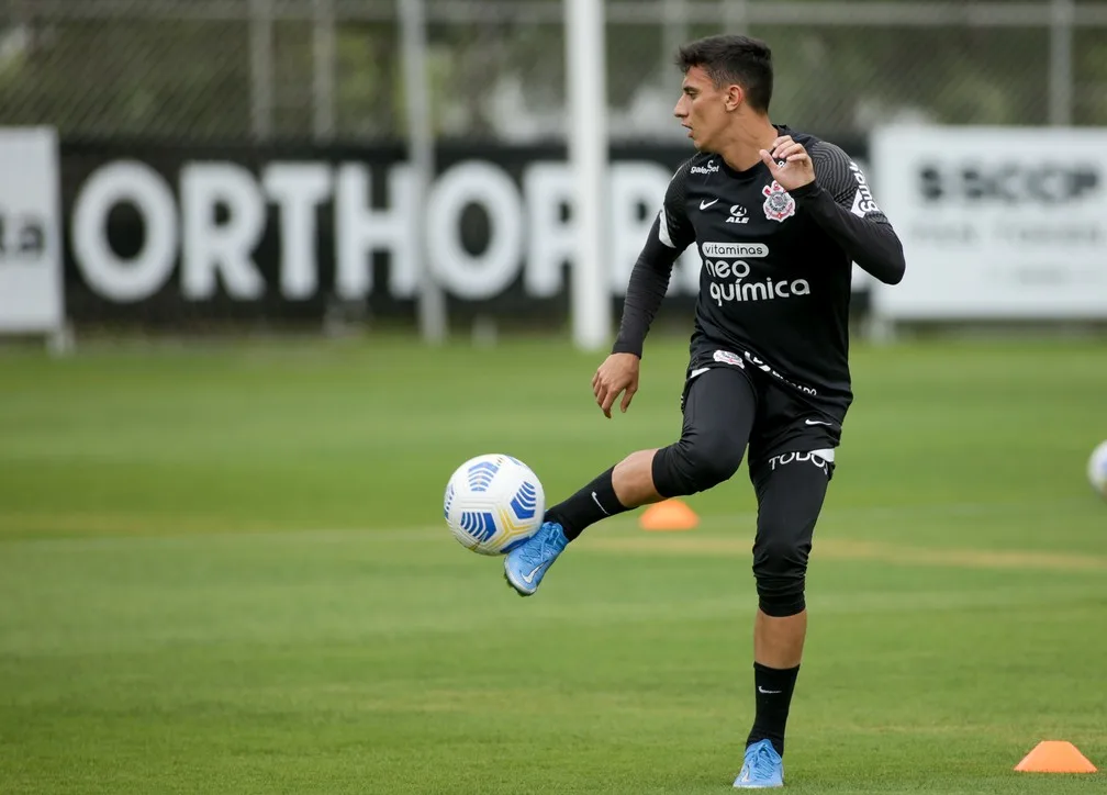
<instances>
[{"instance_id":1,"label":"green grass training field beneath the player","mask_svg":"<svg viewBox=\"0 0 1107 795\"><path fill-rule=\"evenodd\" d=\"M554 341L0 352L0 792L724 793L752 717L745 468L592 528L532 599L442 523L464 458L556 502L677 433L681 341L607 421ZM1107 344L855 351L789 722L796 793L1092 793L1107 767Z\"/></svg>"}]
</instances>

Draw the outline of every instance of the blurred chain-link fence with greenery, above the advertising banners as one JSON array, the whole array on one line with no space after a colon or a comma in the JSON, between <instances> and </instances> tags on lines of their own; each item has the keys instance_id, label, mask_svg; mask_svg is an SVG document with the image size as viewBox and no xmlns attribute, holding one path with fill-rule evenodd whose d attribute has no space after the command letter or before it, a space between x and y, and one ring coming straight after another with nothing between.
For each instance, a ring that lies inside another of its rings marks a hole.
<instances>
[{"instance_id":1,"label":"blurred chain-link fence with greenery, above the advertising banners","mask_svg":"<svg viewBox=\"0 0 1107 795\"><path fill-rule=\"evenodd\" d=\"M0 0L0 124L172 141L405 137L405 0ZM1107 2L610 0L614 138L679 136L683 40L774 49L773 116L1107 125ZM563 134L561 0L426 0L435 133Z\"/></svg>"}]
</instances>

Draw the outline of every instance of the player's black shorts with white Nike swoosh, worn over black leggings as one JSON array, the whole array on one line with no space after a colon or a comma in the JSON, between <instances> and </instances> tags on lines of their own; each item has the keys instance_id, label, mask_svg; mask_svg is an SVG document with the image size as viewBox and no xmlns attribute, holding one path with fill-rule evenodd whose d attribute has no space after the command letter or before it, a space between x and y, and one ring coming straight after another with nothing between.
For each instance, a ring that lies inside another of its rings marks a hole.
<instances>
[{"instance_id":1,"label":"player's black shorts with white Nike swoosh, worn over black leggings","mask_svg":"<svg viewBox=\"0 0 1107 795\"><path fill-rule=\"evenodd\" d=\"M832 475L834 451L841 441L841 420L837 416L840 410L820 404L810 395L748 365L736 354L720 352L711 361L693 361L689 366L681 394L685 424L690 420L690 391L700 376L717 368L741 373L744 381L710 379L710 383L704 382L704 388L720 393L704 395L706 400L703 402L712 407L711 413L730 414L734 417L734 425L749 427L746 460L755 485L767 477L775 466L792 463L788 456L793 455L818 453L819 461L827 464L828 477ZM744 389L743 384L747 384L748 389ZM747 419L748 413L752 413L752 419Z\"/></svg>"}]
</instances>

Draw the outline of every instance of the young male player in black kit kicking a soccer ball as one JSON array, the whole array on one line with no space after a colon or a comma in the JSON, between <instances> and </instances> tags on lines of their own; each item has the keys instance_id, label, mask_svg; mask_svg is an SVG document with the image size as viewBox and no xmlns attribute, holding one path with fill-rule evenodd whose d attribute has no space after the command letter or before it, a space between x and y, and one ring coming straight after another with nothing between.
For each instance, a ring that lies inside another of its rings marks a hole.
<instances>
[{"instance_id":1,"label":"young male player in black kit kicking a soccer ball","mask_svg":"<svg viewBox=\"0 0 1107 795\"><path fill-rule=\"evenodd\" d=\"M785 723L807 631L811 537L846 411L851 262L886 283L903 250L863 175L834 144L768 118L768 47L737 35L681 48L674 114L699 151L673 177L631 273L612 353L592 379L604 415L630 406L650 323L676 257L703 259L677 442L632 453L562 503L505 559L534 593L589 525L728 479L748 446L757 495L753 570L756 715L735 787L784 783Z\"/></svg>"}]
</instances>

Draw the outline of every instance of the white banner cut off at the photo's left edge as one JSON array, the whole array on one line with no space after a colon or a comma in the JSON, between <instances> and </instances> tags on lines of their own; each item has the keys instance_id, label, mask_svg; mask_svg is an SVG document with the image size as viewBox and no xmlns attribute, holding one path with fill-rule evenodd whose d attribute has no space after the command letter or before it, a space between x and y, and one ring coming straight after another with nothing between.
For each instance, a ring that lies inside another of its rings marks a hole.
<instances>
[{"instance_id":1,"label":"white banner cut off at the photo's left edge","mask_svg":"<svg viewBox=\"0 0 1107 795\"><path fill-rule=\"evenodd\" d=\"M54 131L0 128L0 333L63 324L59 188Z\"/></svg>"}]
</instances>

